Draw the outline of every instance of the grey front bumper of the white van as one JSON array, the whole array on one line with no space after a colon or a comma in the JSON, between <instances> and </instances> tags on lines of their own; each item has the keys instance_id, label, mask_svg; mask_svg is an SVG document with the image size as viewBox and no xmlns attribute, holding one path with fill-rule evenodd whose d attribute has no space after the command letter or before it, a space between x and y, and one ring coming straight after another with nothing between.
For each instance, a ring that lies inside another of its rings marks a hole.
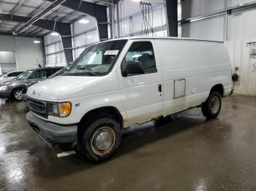
<instances>
[{"instance_id":1,"label":"grey front bumper of the white van","mask_svg":"<svg viewBox=\"0 0 256 191\"><path fill-rule=\"evenodd\" d=\"M42 138L54 144L72 143L78 138L78 125L58 125L35 116L32 112L26 114L26 120Z\"/></svg>"}]
</instances>

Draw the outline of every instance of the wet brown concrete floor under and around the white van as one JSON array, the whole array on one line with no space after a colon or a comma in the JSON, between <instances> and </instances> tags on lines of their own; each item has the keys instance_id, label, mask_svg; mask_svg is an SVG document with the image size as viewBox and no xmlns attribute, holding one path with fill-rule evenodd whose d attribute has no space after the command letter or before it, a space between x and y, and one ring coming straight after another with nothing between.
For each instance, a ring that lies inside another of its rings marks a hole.
<instances>
[{"instance_id":1,"label":"wet brown concrete floor under and around the white van","mask_svg":"<svg viewBox=\"0 0 256 191\"><path fill-rule=\"evenodd\" d=\"M256 97L223 99L124 131L121 147L94 165L57 157L26 123L28 108L0 99L0 190L256 190Z\"/></svg>"}]
</instances>

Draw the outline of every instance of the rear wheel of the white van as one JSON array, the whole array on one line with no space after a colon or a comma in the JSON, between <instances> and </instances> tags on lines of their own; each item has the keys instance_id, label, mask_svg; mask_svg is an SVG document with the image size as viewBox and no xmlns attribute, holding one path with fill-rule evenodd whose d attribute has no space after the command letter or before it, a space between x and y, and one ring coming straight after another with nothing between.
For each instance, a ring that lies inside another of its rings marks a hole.
<instances>
[{"instance_id":1,"label":"rear wheel of the white van","mask_svg":"<svg viewBox=\"0 0 256 191\"><path fill-rule=\"evenodd\" d=\"M206 102L201 105L201 109L205 117L217 117L222 109L222 96L218 92L212 92Z\"/></svg>"}]
</instances>

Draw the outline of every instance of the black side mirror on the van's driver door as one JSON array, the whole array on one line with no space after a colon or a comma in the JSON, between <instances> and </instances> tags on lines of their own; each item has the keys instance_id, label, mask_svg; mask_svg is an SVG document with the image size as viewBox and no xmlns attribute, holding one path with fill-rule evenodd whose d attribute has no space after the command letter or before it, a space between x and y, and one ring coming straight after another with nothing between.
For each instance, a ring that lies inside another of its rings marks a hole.
<instances>
[{"instance_id":1,"label":"black side mirror on the van's driver door","mask_svg":"<svg viewBox=\"0 0 256 191\"><path fill-rule=\"evenodd\" d=\"M144 69L139 61L127 61L126 68L121 70L121 74L123 77L144 74Z\"/></svg>"}]
</instances>

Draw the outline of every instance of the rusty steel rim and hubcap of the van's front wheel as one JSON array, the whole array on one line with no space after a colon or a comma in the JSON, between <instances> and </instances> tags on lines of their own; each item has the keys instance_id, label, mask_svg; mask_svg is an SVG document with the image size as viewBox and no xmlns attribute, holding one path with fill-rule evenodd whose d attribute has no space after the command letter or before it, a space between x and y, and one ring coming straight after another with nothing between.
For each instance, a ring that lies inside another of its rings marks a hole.
<instances>
[{"instance_id":1,"label":"rusty steel rim and hubcap of the van's front wheel","mask_svg":"<svg viewBox=\"0 0 256 191\"><path fill-rule=\"evenodd\" d=\"M106 155L112 151L116 143L116 134L108 126L99 128L91 138L91 149L97 155Z\"/></svg>"}]
</instances>

